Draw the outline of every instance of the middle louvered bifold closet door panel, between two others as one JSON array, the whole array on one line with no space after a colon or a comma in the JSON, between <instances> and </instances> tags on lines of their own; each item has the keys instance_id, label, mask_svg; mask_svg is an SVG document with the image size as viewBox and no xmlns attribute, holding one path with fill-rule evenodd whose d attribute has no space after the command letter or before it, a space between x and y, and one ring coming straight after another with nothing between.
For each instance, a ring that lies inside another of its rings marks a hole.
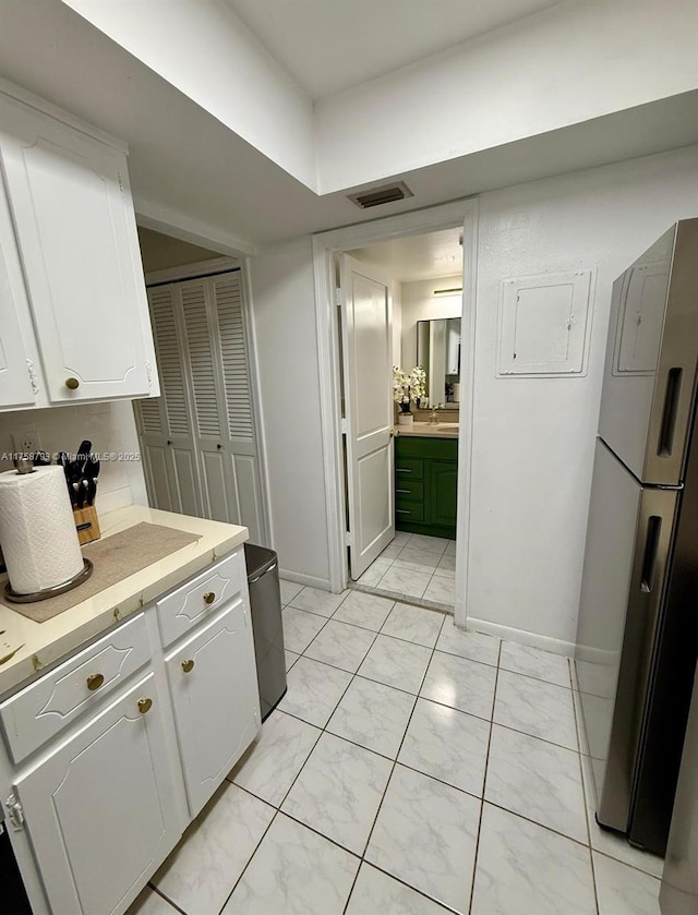
<instances>
[{"instance_id":1,"label":"middle louvered bifold closet door panel, between two others","mask_svg":"<svg viewBox=\"0 0 698 915\"><path fill-rule=\"evenodd\" d=\"M179 284L183 346L192 395L194 443L201 468L203 515L241 523L210 278Z\"/></svg>"}]
</instances>

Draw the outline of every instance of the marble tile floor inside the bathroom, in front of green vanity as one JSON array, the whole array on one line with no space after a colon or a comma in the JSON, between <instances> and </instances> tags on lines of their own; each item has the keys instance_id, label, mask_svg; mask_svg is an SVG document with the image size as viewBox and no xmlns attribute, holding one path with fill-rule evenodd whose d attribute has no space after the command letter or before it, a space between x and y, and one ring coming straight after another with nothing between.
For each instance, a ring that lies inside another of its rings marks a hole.
<instances>
[{"instance_id":1,"label":"marble tile floor inside the bathroom, in front of green vanity","mask_svg":"<svg viewBox=\"0 0 698 915\"><path fill-rule=\"evenodd\" d=\"M397 531L352 588L454 612L456 541Z\"/></svg>"}]
</instances>

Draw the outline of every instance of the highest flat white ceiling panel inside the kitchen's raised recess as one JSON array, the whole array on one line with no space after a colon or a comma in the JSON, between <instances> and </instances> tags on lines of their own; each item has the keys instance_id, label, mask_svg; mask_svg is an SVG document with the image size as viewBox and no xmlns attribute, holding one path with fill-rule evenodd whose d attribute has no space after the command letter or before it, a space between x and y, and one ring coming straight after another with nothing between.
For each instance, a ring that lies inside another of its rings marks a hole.
<instances>
[{"instance_id":1,"label":"highest flat white ceiling panel inside the kitchen's raised recess","mask_svg":"<svg viewBox=\"0 0 698 915\"><path fill-rule=\"evenodd\" d=\"M314 99L416 63L557 0L224 0Z\"/></svg>"}]
</instances>

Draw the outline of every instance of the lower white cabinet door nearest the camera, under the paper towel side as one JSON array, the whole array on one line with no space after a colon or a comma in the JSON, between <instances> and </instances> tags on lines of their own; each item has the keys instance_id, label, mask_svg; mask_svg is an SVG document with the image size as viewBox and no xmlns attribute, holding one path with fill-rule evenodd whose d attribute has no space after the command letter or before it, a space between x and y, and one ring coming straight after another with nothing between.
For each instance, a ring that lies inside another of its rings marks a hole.
<instances>
[{"instance_id":1,"label":"lower white cabinet door nearest the camera, under the paper towel side","mask_svg":"<svg viewBox=\"0 0 698 915\"><path fill-rule=\"evenodd\" d=\"M15 782L56 915L124 912L176 845L165 745L149 674Z\"/></svg>"}]
</instances>

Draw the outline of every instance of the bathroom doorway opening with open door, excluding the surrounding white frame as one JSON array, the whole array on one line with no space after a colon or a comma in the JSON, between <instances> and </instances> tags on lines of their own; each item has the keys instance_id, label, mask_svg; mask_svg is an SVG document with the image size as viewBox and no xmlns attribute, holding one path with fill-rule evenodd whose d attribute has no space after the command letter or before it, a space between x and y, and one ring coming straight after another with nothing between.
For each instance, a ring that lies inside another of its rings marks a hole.
<instances>
[{"instance_id":1,"label":"bathroom doorway opening with open door, excluding the surrounding white frame","mask_svg":"<svg viewBox=\"0 0 698 915\"><path fill-rule=\"evenodd\" d=\"M348 585L452 613L461 242L462 230L454 227L336 255L345 492L354 511ZM348 402L348 388L358 402ZM381 436L384 417L387 436Z\"/></svg>"}]
</instances>

